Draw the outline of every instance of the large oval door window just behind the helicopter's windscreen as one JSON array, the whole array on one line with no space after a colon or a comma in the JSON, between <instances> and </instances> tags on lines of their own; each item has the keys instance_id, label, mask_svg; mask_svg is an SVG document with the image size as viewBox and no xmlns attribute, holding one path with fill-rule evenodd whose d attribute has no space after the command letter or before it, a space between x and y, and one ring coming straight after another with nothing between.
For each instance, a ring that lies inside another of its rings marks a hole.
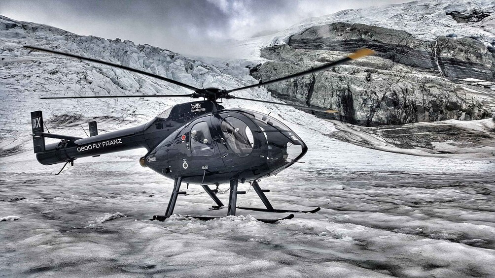
<instances>
[{"instance_id":1,"label":"large oval door window just behind the helicopter's windscreen","mask_svg":"<svg viewBox=\"0 0 495 278\"><path fill-rule=\"evenodd\" d=\"M251 154L254 137L244 121L227 117L222 121L221 128L227 145L238 157L244 158Z\"/></svg>"}]
</instances>

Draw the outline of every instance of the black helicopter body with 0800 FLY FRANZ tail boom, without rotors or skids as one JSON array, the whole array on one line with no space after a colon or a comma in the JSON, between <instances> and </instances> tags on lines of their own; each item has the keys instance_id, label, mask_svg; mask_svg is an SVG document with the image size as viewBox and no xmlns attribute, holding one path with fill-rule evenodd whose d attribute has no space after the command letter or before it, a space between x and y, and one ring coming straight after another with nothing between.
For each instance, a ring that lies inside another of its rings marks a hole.
<instances>
[{"instance_id":1,"label":"black helicopter body with 0800 FLY FRANZ tail boom, without rotors or skids","mask_svg":"<svg viewBox=\"0 0 495 278\"><path fill-rule=\"evenodd\" d=\"M47 145L37 159L54 164L143 147L148 153L142 166L196 184L267 177L307 151L294 131L273 117L198 101L176 105L144 125Z\"/></svg>"}]
</instances>

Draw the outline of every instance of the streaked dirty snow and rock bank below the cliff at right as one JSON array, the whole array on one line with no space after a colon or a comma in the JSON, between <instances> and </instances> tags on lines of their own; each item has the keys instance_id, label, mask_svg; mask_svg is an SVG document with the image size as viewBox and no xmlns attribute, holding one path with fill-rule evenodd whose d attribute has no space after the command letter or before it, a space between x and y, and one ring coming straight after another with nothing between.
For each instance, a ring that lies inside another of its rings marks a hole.
<instances>
[{"instance_id":1,"label":"streaked dirty snow and rock bank below the cliff at right","mask_svg":"<svg viewBox=\"0 0 495 278\"><path fill-rule=\"evenodd\" d=\"M415 156L495 160L495 120L443 120L364 127L331 121L330 136L359 146Z\"/></svg>"}]
</instances>

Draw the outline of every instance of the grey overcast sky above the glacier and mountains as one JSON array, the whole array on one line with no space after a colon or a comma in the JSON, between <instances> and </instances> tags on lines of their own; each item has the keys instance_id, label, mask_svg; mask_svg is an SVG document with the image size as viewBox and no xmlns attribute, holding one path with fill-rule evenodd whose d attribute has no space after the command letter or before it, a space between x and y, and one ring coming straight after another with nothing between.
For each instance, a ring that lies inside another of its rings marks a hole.
<instances>
[{"instance_id":1,"label":"grey overcast sky above the glacier and mountains","mask_svg":"<svg viewBox=\"0 0 495 278\"><path fill-rule=\"evenodd\" d=\"M78 35L148 43L184 54L221 56L222 40L281 31L348 8L407 0L0 0L0 14Z\"/></svg>"}]
</instances>

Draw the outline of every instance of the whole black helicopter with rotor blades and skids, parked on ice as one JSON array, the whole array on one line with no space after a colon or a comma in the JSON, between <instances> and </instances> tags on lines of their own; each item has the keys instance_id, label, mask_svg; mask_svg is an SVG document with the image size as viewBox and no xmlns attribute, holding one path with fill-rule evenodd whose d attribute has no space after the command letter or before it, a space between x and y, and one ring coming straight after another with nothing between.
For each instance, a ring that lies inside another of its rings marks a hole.
<instances>
[{"instance_id":1,"label":"whole black helicopter with rotor blades and skids, parked on ice","mask_svg":"<svg viewBox=\"0 0 495 278\"><path fill-rule=\"evenodd\" d=\"M292 106L300 109L335 113L315 107L306 107L264 100L236 97L230 93L259 87L262 85L293 79L322 71L347 61L357 59L374 52L370 49L360 49L338 61L315 67L294 75L260 81L257 84L225 90L220 88L196 88L179 81L160 77L154 74L132 69L129 67L86 58L70 53L55 50L24 46L31 50L40 50L81 60L104 64L149 77L164 80L187 89L191 94L182 95L114 95L114 96L74 96L74 97L41 97L41 99L64 98L132 98L132 97L191 97L204 98L202 101L188 102L175 105L146 124L98 134L96 121L89 123L90 137L47 133L44 130L41 111L31 112L34 152L38 161L45 165L63 163L64 167L74 160L83 157L97 157L102 154L125 151L136 148L146 148L148 153L139 162L143 167L174 180L174 188L168 203L165 215L155 215L153 219L164 220L173 214L178 195L186 194L180 191L181 183L194 183L203 187L206 193L215 201L212 209L224 206L218 199L218 185L230 183L230 196L227 215L236 214L237 195L245 194L238 191L238 183L250 182L254 191L262 200L266 208L237 207L266 212L298 212L300 210L274 209L266 198L266 192L259 187L258 181L262 178L277 174L297 162L307 152L307 146L287 125L277 119L259 112L247 109L225 109L219 99L242 99ZM58 143L45 145L45 138L60 139ZM62 167L62 170L63 168ZM62 171L60 170L60 172ZM59 173L60 173L59 172ZM59 174L58 173L58 174ZM212 190L209 185L216 185ZM320 208L310 211L314 213ZM202 220L217 217L190 216ZM281 219L293 218L294 214ZM258 219L274 223L280 219Z\"/></svg>"}]
</instances>

